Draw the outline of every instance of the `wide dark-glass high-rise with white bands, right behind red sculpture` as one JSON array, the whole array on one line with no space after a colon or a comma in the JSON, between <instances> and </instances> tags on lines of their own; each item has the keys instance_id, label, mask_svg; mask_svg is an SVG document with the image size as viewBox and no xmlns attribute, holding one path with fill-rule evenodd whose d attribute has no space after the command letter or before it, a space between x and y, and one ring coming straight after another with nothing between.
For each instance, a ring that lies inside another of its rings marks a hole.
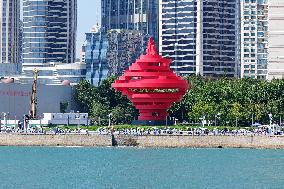
<instances>
[{"instance_id":1,"label":"wide dark-glass high-rise with white bands, right behind red sculpture","mask_svg":"<svg viewBox=\"0 0 284 189\"><path fill-rule=\"evenodd\" d=\"M159 0L160 53L181 75L237 77L239 0Z\"/></svg>"}]
</instances>

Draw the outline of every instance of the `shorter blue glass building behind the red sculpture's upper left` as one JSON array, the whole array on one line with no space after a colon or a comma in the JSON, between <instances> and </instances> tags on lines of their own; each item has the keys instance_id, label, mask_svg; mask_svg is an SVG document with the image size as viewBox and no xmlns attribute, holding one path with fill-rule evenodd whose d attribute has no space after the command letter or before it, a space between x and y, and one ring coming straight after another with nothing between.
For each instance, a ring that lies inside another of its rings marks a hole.
<instances>
[{"instance_id":1,"label":"shorter blue glass building behind the red sculpture's upper left","mask_svg":"<svg viewBox=\"0 0 284 189\"><path fill-rule=\"evenodd\" d=\"M142 38L136 30L113 29L105 33L94 26L86 33L84 44L87 80L97 86L110 75L121 75L140 56Z\"/></svg>"}]
</instances>

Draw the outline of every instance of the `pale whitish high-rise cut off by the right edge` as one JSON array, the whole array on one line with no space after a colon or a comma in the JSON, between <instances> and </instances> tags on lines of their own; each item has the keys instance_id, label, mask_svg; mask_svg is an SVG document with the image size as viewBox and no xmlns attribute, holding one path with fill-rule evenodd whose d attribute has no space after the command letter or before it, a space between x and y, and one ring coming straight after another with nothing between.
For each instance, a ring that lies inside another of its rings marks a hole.
<instances>
[{"instance_id":1,"label":"pale whitish high-rise cut off by the right edge","mask_svg":"<svg viewBox=\"0 0 284 189\"><path fill-rule=\"evenodd\" d=\"M268 1L268 79L284 78L284 1Z\"/></svg>"}]
</instances>

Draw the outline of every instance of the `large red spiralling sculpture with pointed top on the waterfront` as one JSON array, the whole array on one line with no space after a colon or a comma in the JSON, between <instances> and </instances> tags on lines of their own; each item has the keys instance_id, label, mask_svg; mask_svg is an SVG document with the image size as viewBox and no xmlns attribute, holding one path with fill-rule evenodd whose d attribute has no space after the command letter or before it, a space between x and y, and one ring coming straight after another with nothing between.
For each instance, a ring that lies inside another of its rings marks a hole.
<instances>
[{"instance_id":1,"label":"large red spiralling sculpture with pointed top on the waterfront","mask_svg":"<svg viewBox=\"0 0 284 189\"><path fill-rule=\"evenodd\" d=\"M174 102L182 99L189 88L187 81L171 69L172 61L157 53L154 41L149 39L147 54L133 63L112 87L122 92L139 110L139 121L161 122Z\"/></svg>"}]
</instances>

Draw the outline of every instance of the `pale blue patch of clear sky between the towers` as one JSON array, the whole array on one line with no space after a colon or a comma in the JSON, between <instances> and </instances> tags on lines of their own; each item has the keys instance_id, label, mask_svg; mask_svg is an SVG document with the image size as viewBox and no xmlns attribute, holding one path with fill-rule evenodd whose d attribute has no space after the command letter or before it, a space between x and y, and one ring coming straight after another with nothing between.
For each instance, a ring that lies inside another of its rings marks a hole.
<instances>
[{"instance_id":1,"label":"pale blue patch of clear sky between the towers","mask_svg":"<svg viewBox=\"0 0 284 189\"><path fill-rule=\"evenodd\" d=\"M91 27L101 21L101 0L77 0L78 3L78 25L77 25L77 57L79 58L80 46L85 33Z\"/></svg>"}]
</instances>

